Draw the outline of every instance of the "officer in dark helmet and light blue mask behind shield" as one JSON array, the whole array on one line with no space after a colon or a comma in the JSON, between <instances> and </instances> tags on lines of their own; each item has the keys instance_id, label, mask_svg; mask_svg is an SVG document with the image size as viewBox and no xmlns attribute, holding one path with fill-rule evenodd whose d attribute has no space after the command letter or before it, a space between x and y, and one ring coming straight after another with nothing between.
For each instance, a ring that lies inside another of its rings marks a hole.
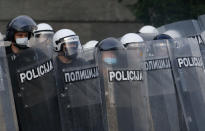
<instances>
[{"instance_id":1,"label":"officer in dark helmet and light blue mask behind shield","mask_svg":"<svg viewBox=\"0 0 205 131\"><path fill-rule=\"evenodd\" d=\"M108 130L134 130L129 82L109 83L108 72L127 69L127 51L116 38L107 38L97 45L103 114ZM125 106L126 105L126 106Z\"/></svg>"}]
</instances>

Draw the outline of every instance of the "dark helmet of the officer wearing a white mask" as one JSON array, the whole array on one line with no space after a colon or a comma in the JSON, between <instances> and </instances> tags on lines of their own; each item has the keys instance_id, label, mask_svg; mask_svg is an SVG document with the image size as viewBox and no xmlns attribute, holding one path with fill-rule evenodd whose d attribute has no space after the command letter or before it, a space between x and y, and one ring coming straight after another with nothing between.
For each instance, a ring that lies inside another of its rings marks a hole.
<instances>
[{"instance_id":1,"label":"dark helmet of the officer wearing a white mask","mask_svg":"<svg viewBox=\"0 0 205 131\"><path fill-rule=\"evenodd\" d=\"M28 39L30 39L33 34L33 30L36 28L36 23L31 17L25 15L18 16L8 23L5 41L12 41L16 43L14 38L16 32L27 32Z\"/></svg>"}]
</instances>

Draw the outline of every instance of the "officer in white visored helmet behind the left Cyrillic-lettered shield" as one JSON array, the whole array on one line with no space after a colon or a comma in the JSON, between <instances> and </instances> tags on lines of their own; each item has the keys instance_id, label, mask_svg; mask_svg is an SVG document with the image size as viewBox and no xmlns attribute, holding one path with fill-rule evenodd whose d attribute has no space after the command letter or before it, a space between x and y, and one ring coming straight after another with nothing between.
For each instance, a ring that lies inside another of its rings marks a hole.
<instances>
[{"instance_id":1,"label":"officer in white visored helmet behind the left Cyrillic-lettered shield","mask_svg":"<svg viewBox=\"0 0 205 131\"><path fill-rule=\"evenodd\" d=\"M92 68L85 61L79 37L70 29L61 29L54 34L53 49L63 131L103 130L97 79L85 81L82 79L86 73L81 77L78 75L82 70ZM69 82L70 78L74 82Z\"/></svg>"}]
</instances>

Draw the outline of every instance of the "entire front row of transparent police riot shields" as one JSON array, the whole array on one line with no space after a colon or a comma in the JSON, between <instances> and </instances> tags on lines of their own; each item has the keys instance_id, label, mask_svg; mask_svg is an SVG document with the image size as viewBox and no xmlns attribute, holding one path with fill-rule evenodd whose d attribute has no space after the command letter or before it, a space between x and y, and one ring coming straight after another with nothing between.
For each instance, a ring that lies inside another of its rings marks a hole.
<instances>
[{"instance_id":1,"label":"entire front row of transparent police riot shields","mask_svg":"<svg viewBox=\"0 0 205 131\"><path fill-rule=\"evenodd\" d=\"M6 57L2 46L0 58L2 131L205 130L204 64L194 38L69 58L43 45Z\"/></svg>"}]
</instances>

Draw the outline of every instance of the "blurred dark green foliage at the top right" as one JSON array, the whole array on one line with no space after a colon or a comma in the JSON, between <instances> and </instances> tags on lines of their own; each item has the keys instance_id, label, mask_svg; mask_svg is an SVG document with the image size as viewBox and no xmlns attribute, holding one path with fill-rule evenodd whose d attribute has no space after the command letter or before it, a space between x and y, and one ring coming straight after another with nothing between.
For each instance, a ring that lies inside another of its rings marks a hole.
<instances>
[{"instance_id":1,"label":"blurred dark green foliage at the top right","mask_svg":"<svg viewBox=\"0 0 205 131\"><path fill-rule=\"evenodd\" d=\"M205 14L205 0L138 0L128 7L137 21L154 26Z\"/></svg>"}]
</instances>

